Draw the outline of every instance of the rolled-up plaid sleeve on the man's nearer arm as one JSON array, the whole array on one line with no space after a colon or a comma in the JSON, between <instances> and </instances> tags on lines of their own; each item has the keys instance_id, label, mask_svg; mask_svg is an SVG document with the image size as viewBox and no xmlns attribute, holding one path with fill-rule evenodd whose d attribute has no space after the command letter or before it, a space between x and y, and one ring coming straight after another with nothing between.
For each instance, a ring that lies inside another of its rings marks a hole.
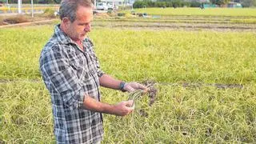
<instances>
[{"instance_id":1,"label":"rolled-up plaid sleeve on the man's nearer arm","mask_svg":"<svg viewBox=\"0 0 256 144\"><path fill-rule=\"evenodd\" d=\"M53 87L61 95L65 106L70 110L83 106L86 91L82 89L81 82L74 74L66 54L54 49L47 51L42 54L40 69L43 78L52 85L49 87Z\"/></svg>"}]
</instances>

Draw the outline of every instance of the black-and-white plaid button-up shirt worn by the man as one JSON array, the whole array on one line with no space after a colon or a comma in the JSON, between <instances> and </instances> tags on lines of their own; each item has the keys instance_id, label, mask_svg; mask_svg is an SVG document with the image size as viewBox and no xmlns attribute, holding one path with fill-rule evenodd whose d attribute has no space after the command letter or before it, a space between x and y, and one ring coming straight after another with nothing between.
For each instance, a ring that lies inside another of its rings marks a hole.
<instances>
[{"instance_id":1,"label":"black-and-white plaid button-up shirt worn by the man","mask_svg":"<svg viewBox=\"0 0 256 144\"><path fill-rule=\"evenodd\" d=\"M58 143L95 143L102 140L102 114L83 108L86 95L100 101L103 72L89 38L78 48L59 25L40 56L42 78L50 91L54 134Z\"/></svg>"}]
</instances>

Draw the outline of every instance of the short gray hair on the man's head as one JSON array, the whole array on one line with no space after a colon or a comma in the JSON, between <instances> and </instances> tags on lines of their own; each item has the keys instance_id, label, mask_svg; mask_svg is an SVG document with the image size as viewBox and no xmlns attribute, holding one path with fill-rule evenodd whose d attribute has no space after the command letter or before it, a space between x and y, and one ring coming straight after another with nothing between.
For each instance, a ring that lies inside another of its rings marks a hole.
<instances>
[{"instance_id":1,"label":"short gray hair on the man's head","mask_svg":"<svg viewBox=\"0 0 256 144\"><path fill-rule=\"evenodd\" d=\"M92 8L93 3L90 0L62 0L59 7L59 17L61 20L66 17L70 19L70 22L74 22L78 6Z\"/></svg>"}]
</instances>

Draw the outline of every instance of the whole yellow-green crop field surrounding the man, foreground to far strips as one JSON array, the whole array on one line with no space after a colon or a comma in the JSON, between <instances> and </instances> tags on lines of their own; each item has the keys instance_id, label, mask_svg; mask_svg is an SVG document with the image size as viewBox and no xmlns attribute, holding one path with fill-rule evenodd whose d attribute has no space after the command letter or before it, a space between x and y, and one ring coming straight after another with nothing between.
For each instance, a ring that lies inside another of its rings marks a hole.
<instances>
[{"instance_id":1,"label":"whole yellow-green crop field surrounding the man, foreground to far strips","mask_svg":"<svg viewBox=\"0 0 256 144\"><path fill-rule=\"evenodd\" d=\"M89 36L102 70L126 82L154 83L157 90L153 104L146 94L126 117L104 114L102 143L256 142L256 33L241 28L254 24L222 19L207 23L214 29L170 17L94 19ZM38 70L53 28L0 29L0 143L54 143L50 94ZM102 102L129 97L101 90Z\"/></svg>"}]
</instances>

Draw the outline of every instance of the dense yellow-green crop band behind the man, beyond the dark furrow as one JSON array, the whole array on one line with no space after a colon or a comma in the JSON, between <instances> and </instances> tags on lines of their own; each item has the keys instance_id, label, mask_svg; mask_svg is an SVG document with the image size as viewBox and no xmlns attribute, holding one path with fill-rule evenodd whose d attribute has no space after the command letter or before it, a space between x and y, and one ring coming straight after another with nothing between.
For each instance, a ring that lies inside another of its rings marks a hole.
<instances>
[{"instance_id":1,"label":"dense yellow-green crop band behind the man, beyond the dark furrow","mask_svg":"<svg viewBox=\"0 0 256 144\"><path fill-rule=\"evenodd\" d=\"M41 78L38 57L53 26L0 31L0 78ZM238 32L95 29L102 69L127 81L255 82L256 35ZM122 61L120 61L122 60Z\"/></svg>"}]
</instances>

